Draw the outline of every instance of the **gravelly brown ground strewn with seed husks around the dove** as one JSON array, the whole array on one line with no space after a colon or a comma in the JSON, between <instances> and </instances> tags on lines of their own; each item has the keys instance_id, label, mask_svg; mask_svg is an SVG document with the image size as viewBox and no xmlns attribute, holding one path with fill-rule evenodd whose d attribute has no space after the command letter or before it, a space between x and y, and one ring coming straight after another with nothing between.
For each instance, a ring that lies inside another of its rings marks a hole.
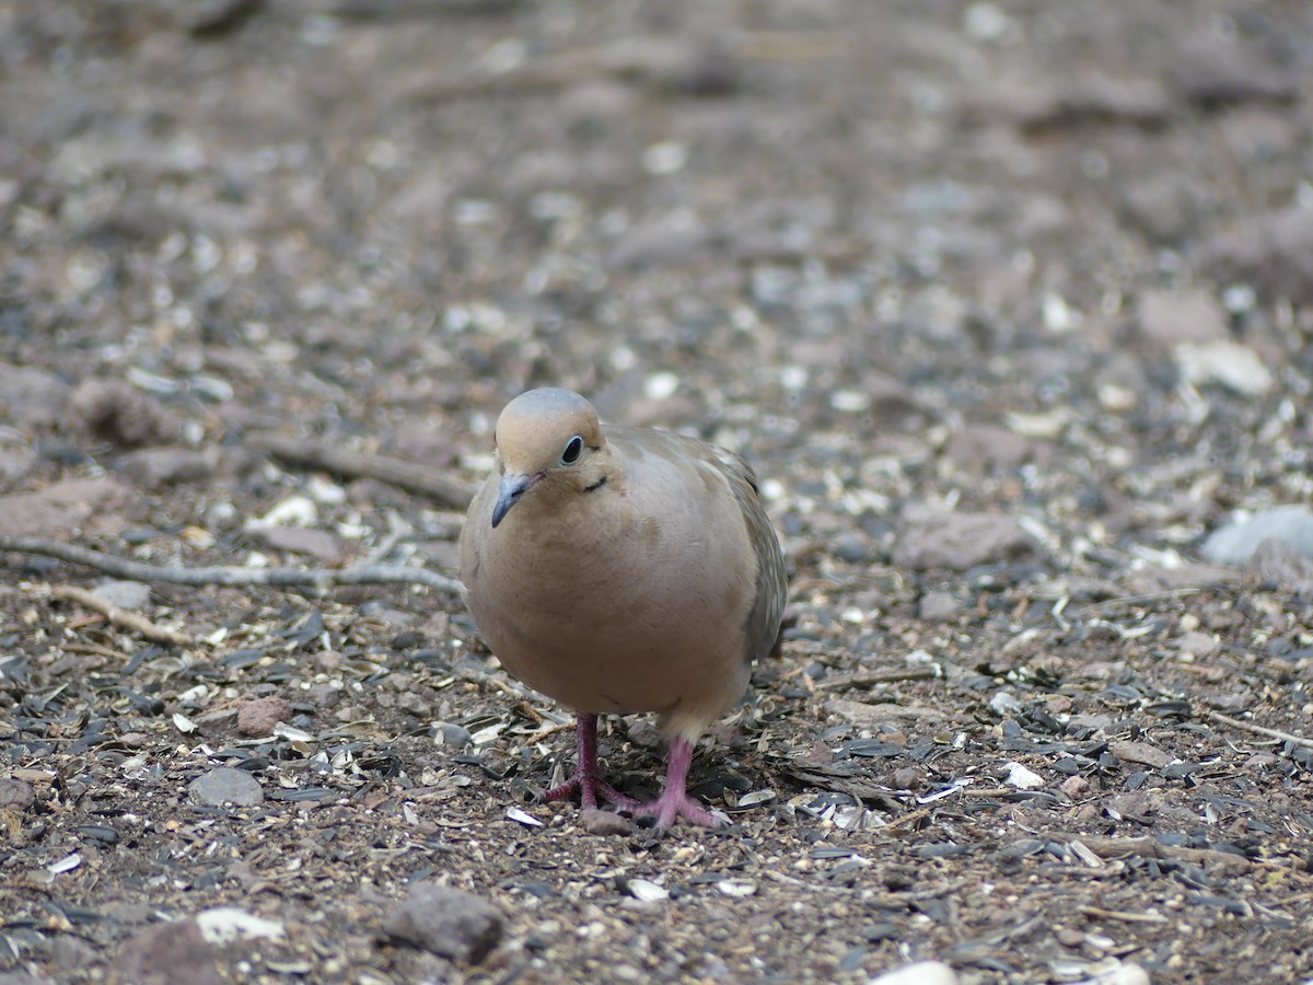
<instances>
[{"instance_id":1,"label":"gravelly brown ground strewn with seed husks around the dove","mask_svg":"<svg viewBox=\"0 0 1313 985\"><path fill-rule=\"evenodd\" d=\"M792 570L693 764L733 823L658 839L536 800L569 711L437 580L104 590L131 625L0 554L0 981L1313 976L1313 580L1200 556L1313 491L1310 38L0 4L0 535L452 575L551 383L747 454ZM601 745L656 789L649 720ZM408 940L432 883L488 936Z\"/></svg>"}]
</instances>

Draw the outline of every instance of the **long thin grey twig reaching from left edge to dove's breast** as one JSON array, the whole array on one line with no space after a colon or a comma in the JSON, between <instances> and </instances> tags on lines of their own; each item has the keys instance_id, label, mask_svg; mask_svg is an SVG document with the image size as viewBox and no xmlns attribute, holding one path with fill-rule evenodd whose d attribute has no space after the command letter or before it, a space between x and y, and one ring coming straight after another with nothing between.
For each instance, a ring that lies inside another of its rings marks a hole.
<instances>
[{"instance_id":1,"label":"long thin grey twig reaching from left edge to dove's breast","mask_svg":"<svg viewBox=\"0 0 1313 985\"><path fill-rule=\"evenodd\" d=\"M84 565L97 571L154 584L189 586L310 586L331 588L339 584L424 584L442 592L460 594L461 583L423 567L395 567L389 565L358 565L356 567L240 567L215 565L209 567L164 567L140 561L106 554L89 548L51 540L49 537L0 536L0 550L18 554L39 554Z\"/></svg>"}]
</instances>

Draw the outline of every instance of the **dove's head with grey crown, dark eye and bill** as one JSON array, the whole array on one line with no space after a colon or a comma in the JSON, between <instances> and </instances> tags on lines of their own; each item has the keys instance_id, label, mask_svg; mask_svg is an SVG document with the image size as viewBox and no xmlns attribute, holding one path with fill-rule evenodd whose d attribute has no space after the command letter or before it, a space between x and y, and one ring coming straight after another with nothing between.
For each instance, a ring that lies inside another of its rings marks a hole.
<instances>
[{"instance_id":1,"label":"dove's head with grey crown, dark eye and bill","mask_svg":"<svg viewBox=\"0 0 1313 985\"><path fill-rule=\"evenodd\" d=\"M494 437L500 486L492 525L530 490L561 499L605 481L605 441L597 411L570 390L529 390L511 401Z\"/></svg>"}]
</instances>

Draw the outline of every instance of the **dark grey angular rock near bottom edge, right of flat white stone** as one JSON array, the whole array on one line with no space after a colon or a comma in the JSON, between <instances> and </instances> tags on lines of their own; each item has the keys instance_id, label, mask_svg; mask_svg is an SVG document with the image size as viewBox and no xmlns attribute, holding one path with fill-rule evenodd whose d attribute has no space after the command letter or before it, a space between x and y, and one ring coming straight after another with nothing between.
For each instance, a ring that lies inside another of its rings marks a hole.
<instances>
[{"instance_id":1,"label":"dark grey angular rock near bottom edge, right of flat white stone","mask_svg":"<svg viewBox=\"0 0 1313 985\"><path fill-rule=\"evenodd\" d=\"M477 963L502 939L506 918L482 897L420 883L383 918L383 934L435 955Z\"/></svg>"}]
</instances>

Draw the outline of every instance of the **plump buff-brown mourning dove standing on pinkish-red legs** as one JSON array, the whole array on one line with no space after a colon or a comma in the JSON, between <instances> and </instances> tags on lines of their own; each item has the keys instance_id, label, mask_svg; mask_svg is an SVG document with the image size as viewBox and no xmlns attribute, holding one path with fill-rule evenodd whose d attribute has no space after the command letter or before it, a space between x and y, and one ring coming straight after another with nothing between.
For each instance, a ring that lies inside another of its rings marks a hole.
<instances>
[{"instance_id":1,"label":"plump buff-brown mourning dove standing on pinkish-red legs","mask_svg":"<svg viewBox=\"0 0 1313 985\"><path fill-rule=\"evenodd\" d=\"M608 426L583 397L530 390L502 411L496 468L461 533L466 603L502 665L578 712L579 792L717 826L687 793L693 745L775 646L788 583L780 541L739 456ZM656 712L664 792L638 804L597 766L597 716Z\"/></svg>"}]
</instances>

